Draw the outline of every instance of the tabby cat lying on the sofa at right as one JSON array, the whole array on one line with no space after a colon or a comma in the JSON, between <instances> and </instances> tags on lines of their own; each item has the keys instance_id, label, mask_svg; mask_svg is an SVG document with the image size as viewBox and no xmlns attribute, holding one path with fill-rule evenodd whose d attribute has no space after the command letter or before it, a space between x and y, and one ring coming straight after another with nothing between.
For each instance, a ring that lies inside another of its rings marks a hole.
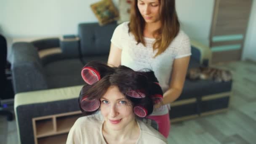
<instances>
[{"instance_id":1,"label":"tabby cat lying on the sofa at right","mask_svg":"<svg viewBox=\"0 0 256 144\"><path fill-rule=\"evenodd\" d=\"M196 67L187 72L189 80L214 80L215 82L227 82L232 80L232 73L229 70L214 67Z\"/></svg>"}]
</instances>

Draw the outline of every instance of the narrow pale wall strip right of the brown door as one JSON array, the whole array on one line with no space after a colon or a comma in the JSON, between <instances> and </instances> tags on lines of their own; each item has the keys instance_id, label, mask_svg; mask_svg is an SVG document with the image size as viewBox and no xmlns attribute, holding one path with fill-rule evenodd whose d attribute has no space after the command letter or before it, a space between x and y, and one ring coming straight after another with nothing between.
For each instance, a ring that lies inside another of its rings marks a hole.
<instances>
[{"instance_id":1,"label":"narrow pale wall strip right of the brown door","mask_svg":"<svg viewBox=\"0 0 256 144\"><path fill-rule=\"evenodd\" d=\"M256 61L256 0L253 0L251 8L250 21L248 24L242 59L251 59Z\"/></svg>"}]
</instances>

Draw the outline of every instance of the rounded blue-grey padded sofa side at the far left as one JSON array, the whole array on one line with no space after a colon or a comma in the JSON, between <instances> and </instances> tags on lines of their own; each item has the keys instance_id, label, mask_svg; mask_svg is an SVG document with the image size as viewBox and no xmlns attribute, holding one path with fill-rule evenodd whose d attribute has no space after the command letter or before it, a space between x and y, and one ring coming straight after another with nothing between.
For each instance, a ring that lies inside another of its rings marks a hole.
<instances>
[{"instance_id":1,"label":"rounded blue-grey padded sofa side at the far left","mask_svg":"<svg viewBox=\"0 0 256 144\"><path fill-rule=\"evenodd\" d=\"M47 89L47 82L37 49L32 43L12 45L11 70L15 93Z\"/></svg>"}]
</instances>

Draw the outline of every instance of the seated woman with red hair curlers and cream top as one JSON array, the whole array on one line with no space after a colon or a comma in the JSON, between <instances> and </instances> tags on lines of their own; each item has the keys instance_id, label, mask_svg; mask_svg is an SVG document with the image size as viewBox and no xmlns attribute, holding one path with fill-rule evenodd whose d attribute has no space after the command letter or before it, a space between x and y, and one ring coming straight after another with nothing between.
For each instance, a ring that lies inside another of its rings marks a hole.
<instances>
[{"instance_id":1,"label":"seated woman with red hair curlers and cream top","mask_svg":"<svg viewBox=\"0 0 256 144\"><path fill-rule=\"evenodd\" d=\"M67 144L166 144L163 135L142 122L159 103L163 92L154 72L135 72L119 66L90 62L79 106L86 116L77 119Z\"/></svg>"}]
</instances>

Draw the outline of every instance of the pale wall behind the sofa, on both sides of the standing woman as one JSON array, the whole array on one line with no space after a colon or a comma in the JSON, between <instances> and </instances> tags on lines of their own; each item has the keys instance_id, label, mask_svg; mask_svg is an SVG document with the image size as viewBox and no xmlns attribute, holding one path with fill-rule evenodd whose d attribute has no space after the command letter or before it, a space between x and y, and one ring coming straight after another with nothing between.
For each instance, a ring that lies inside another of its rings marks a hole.
<instances>
[{"instance_id":1,"label":"pale wall behind the sofa, on both sides of the standing woman","mask_svg":"<svg viewBox=\"0 0 256 144\"><path fill-rule=\"evenodd\" d=\"M0 33L8 38L77 34L77 24L97 21L90 5L99 0L0 0ZM118 0L113 0L117 5ZM181 28L208 45L214 0L176 0Z\"/></svg>"}]
</instances>

